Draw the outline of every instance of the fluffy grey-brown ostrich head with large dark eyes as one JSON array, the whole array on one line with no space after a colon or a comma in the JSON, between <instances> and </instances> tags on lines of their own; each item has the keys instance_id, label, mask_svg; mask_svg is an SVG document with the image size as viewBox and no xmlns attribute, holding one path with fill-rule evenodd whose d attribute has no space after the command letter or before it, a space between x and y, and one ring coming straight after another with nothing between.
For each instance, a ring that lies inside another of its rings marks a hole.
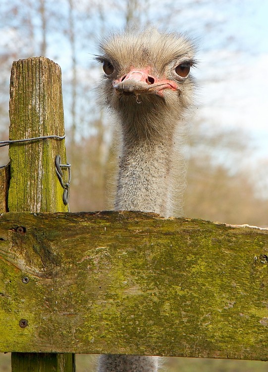
<instances>
[{"instance_id":1,"label":"fluffy grey-brown ostrich head with large dark eyes","mask_svg":"<svg viewBox=\"0 0 268 372\"><path fill-rule=\"evenodd\" d=\"M101 89L120 118L123 135L152 140L165 135L167 125L172 130L192 102L192 43L176 33L149 29L113 34L101 49Z\"/></svg>"}]
</instances>

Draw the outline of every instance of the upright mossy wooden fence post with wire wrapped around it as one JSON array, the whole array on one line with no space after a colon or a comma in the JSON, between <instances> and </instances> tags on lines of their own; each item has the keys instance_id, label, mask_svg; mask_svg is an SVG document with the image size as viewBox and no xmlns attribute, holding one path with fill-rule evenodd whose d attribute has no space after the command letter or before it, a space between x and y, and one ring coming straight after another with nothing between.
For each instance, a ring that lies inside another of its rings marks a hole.
<instances>
[{"instance_id":1,"label":"upright mossy wooden fence post with wire wrapped around it","mask_svg":"<svg viewBox=\"0 0 268 372\"><path fill-rule=\"evenodd\" d=\"M64 134L60 67L47 58L13 63L9 102L11 140ZM41 139L9 146L11 212L67 212L55 158L66 164L64 140ZM67 182L67 170L62 169ZM23 328L21 329L23 332ZM75 371L74 354L12 353L12 372Z\"/></svg>"}]
</instances>

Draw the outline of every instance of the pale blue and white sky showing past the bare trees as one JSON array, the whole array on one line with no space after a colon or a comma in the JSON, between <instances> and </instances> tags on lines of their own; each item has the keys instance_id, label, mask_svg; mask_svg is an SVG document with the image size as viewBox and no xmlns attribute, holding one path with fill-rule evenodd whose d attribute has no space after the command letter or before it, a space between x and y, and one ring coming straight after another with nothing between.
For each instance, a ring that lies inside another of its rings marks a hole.
<instances>
[{"instance_id":1,"label":"pale blue and white sky showing past the bare trees","mask_svg":"<svg viewBox=\"0 0 268 372\"><path fill-rule=\"evenodd\" d=\"M178 6L183 8L182 12L170 12L168 4L174 6L171 0L148 1L150 9L141 12L144 19L161 18L156 23L160 28L164 25L171 31L182 30L198 40L197 58L200 62L193 71L199 85L196 118L207 121L208 126L247 131L255 141L254 158L268 158L268 0L203 0L192 3L180 0ZM86 2L90 3L90 0ZM118 3L122 2L118 0ZM83 12L83 0L79 4ZM112 6L112 2L104 9L106 31L122 28L122 12ZM98 17L89 22L97 30ZM6 29L4 34L6 37ZM1 44L4 38L3 34L0 36ZM10 40L14 41L16 48L16 37L12 38ZM47 55L60 64L63 86L69 81L71 62L65 43L55 38ZM89 40L84 45L85 48L77 50L81 79L90 77L92 57L97 52L96 41ZM25 58L23 54L21 58ZM99 70L96 73L99 74ZM67 98L65 101L67 108Z\"/></svg>"}]
</instances>

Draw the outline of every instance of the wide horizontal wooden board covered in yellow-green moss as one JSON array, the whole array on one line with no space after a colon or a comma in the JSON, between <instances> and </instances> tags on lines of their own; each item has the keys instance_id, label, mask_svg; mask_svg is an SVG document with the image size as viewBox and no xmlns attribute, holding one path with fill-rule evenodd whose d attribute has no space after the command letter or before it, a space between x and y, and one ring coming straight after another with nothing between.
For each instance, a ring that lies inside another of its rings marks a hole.
<instances>
[{"instance_id":1,"label":"wide horizontal wooden board covered in yellow-green moss","mask_svg":"<svg viewBox=\"0 0 268 372\"><path fill-rule=\"evenodd\" d=\"M267 230L4 213L0 256L1 351L268 360Z\"/></svg>"}]
</instances>

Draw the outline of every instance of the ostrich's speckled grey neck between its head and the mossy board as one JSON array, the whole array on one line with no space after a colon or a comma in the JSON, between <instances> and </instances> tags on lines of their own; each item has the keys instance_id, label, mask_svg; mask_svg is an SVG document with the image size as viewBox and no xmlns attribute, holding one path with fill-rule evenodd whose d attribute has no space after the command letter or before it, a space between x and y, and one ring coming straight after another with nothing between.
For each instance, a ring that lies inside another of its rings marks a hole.
<instances>
[{"instance_id":1,"label":"ostrich's speckled grey neck between its head and the mossy board","mask_svg":"<svg viewBox=\"0 0 268 372\"><path fill-rule=\"evenodd\" d=\"M173 131L158 132L156 138L123 132L116 210L139 210L170 216L173 135Z\"/></svg>"}]
</instances>

